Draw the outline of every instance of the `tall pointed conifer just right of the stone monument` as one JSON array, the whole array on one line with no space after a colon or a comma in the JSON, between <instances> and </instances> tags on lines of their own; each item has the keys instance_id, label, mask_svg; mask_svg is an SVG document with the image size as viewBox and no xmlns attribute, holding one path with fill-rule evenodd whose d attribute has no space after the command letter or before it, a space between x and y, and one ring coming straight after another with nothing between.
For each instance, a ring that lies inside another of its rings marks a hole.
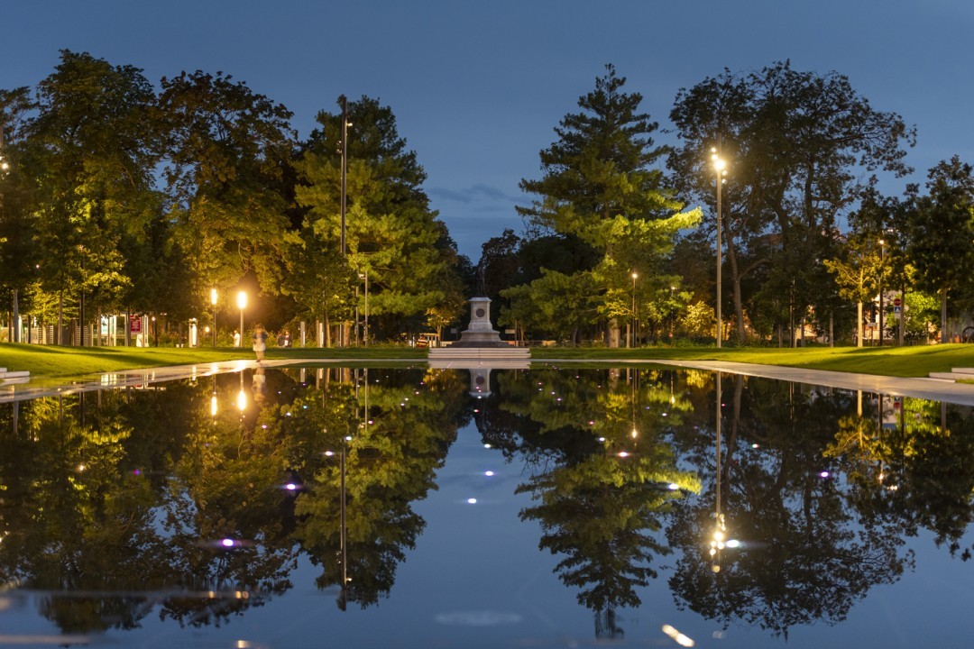
<instances>
[{"instance_id":1,"label":"tall pointed conifer just right of the stone monument","mask_svg":"<svg viewBox=\"0 0 974 649\"><path fill-rule=\"evenodd\" d=\"M674 215L682 205L653 167L666 153L651 137L657 125L639 112L642 95L623 91L624 85L607 65L595 90L579 99L582 112L565 116L554 129L558 140L541 152L543 177L521 181L523 191L539 198L517 208L534 229L593 250L591 265L564 274L590 273L603 292L597 321L614 323L614 329L618 317L631 312L633 271L643 278L641 303L669 297L673 278L662 272L662 261L676 234L699 218L697 211Z\"/></svg>"}]
</instances>

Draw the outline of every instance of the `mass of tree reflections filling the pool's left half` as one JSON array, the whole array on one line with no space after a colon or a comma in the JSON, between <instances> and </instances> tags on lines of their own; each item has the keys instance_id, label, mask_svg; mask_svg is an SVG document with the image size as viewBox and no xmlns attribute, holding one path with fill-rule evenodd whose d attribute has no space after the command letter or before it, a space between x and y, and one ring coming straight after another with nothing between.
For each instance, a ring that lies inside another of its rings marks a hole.
<instances>
[{"instance_id":1,"label":"mass of tree reflections filling the pool's left half","mask_svg":"<svg viewBox=\"0 0 974 649\"><path fill-rule=\"evenodd\" d=\"M410 500L462 420L462 384L396 373L366 409L352 373L324 377L268 372L266 398L243 411L240 375L0 408L0 581L37 593L64 632L129 629L154 609L218 625L289 589L301 550L333 584L337 482L323 452L351 431L351 599L388 594L423 526ZM295 497L284 484L302 477Z\"/></svg>"}]
</instances>

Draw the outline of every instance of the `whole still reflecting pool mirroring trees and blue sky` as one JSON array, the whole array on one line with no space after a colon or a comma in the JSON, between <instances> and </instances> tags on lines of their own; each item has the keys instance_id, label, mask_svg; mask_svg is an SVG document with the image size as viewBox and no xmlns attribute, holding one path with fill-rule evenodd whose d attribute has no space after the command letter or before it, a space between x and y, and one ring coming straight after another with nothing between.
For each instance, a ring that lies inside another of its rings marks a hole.
<instances>
[{"instance_id":1,"label":"whole still reflecting pool mirroring trees and blue sky","mask_svg":"<svg viewBox=\"0 0 974 649\"><path fill-rule=\"evenodd\" d=\"M968 407L652 365L0 404L0 646L967 646Z\"/></svg>"}]
</instances>

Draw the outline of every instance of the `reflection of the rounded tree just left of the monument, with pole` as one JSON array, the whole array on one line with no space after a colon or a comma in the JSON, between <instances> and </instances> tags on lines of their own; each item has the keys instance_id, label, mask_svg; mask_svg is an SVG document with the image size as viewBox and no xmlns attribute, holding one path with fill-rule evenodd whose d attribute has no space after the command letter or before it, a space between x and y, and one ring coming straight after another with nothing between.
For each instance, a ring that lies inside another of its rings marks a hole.
<instances>
[{"instance_id":1,"label":"reflection of the rounded tree just left of the monument, with pole","mask_svg":"<svg viewBox=\"0 0 974 649\"><path fill-rule=\"evenodd\" d=\"M467 395L454 372L397 373L381 383L370 383L363 373L321 398L318 455L335 454L303 467L310 488L297 506L296 536L323 567L318 587L338 586L340 606L353 601L364 608L389 595L396 565L426 525L412 502L436 488L435 471L456 438ZM345 566L341 452L347 489ZM343 575L349 580L344 588Z\"/></svg>"}]
</instances>

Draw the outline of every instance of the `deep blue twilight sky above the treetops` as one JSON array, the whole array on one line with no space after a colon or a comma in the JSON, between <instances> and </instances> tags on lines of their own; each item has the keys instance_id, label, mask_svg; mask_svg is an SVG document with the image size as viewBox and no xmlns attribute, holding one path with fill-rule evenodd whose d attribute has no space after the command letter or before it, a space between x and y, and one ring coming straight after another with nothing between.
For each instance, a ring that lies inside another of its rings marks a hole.
<instances>
[{"instance_id":1,"label":"deep blue twilight sky above the treetops","mask_svg":"<svg viewBox=\"0 0 974 649\"><path fill-rule=\"evenodd\" d=\"M918 127L912 180L954 154L974 162L969 0L35 0L0 19L2 88L36 84L61 49L153 82L223 71L293 111L302 137L339 94L378 97L474 262L520 231L518 182L539 176L552 128L609 62L661 128L678 90L725 67L835 70Z\"/></svg>"}]
</instances>

